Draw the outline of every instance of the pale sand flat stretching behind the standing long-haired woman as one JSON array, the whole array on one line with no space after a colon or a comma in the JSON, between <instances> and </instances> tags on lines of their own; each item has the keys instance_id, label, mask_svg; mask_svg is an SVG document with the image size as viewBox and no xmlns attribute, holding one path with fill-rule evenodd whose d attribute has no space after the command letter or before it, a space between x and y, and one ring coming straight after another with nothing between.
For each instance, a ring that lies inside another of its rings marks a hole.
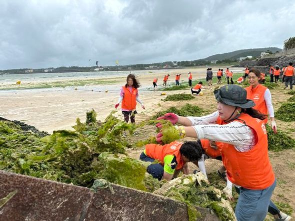
<instances>
[{"instance_id":1,"label":"pale sand flat stretching behind the standing long-haired woman","mask_svg":"<svg viewBox=\"0 0 295 221\"><path fill-rule=\"evenodd\" d=\"M223 67L223 69L225 68ZM180 78L181 82L187 82L188 71L192 72L193 80L196 80L205 77L205 70L206 67L172 69L164 72L152 70L152 73L146 71L145 74L137 75L141 83L139 97L145 105L145 110L137 105L138 115L135 118L136 121L139 122L141 119L146 119L152 113L160 111L163 108L157 104L164 96L161 96L159 91L147 90L152 86L151 82L153 78L157 77L158 85L161 85L163 76L170 74L168 83L173 85L176 73L182 74ZM217 68L213 68L213 73L216 70ZM241 68L231 68L231 70L235 73L241 72ZM128 72L126 72L126 76L127 74ZM108 80L111 79L112 83L105 83L103 86L97 84L83 87L0 90L0 116L9 120L22 121L49 133L52 133L53 130L71 129L71 126L75 124L76 118L79 117L81 121L84 121L86 111L92 108L97 112L97 119L104 120L110 111L115 110L113 106L117 102L120 86L124 85L126 76L110 76ZM97 78L93 78L93 80L95 79ZM49 80L44 79L44 81L46 83ZM22 84L34 83L38 82L30 81ZM104 92L106 90L107 92ZM178 91L178 93L181 92L189 93L190 91L189 89ZM170 93L173 92L166 92L167 95ZM115 116L123 119L119 108Z\"/></svg>"}]
</instances>

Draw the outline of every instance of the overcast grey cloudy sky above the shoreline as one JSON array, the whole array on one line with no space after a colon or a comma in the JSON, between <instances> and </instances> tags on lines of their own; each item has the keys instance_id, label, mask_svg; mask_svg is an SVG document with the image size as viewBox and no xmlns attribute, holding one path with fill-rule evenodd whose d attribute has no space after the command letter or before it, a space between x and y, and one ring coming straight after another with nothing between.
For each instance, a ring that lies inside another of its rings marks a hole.
<instances>
[{"instance_id":1,"label":"overcast grey cloudy sky above the shoreline","mask_svg":"<svg viewBox=\"0 0 295 221\"><path fill-rule=\"evenodd\" d=\"M291 0L0 0L0 69L282 48L294 24Z\"/></svg>"}]
</instances>

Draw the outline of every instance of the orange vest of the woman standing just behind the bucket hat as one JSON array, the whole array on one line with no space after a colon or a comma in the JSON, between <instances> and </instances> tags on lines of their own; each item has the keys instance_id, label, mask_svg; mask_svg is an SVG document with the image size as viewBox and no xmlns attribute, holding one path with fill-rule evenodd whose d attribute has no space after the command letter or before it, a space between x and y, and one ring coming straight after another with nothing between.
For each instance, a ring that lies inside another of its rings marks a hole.
<instances>
[{"instance_id":1,"label":"orange vest of the woman standing just behind the bucket hat","mask_svg":"<svg viewBox=\"0 0 295 221\"><path fill-rule=\"evenodd\" d=\"M262 114L267 115L267 106L263 98L267 87L258 84L255 88L252 88L252 86L248 86L245 89L247 91L247 99L250 99L255 103L255 106L253 108L260 111ZM263 122L267 123L267 118L265 118Z\"/></svg>"}]
</instances>

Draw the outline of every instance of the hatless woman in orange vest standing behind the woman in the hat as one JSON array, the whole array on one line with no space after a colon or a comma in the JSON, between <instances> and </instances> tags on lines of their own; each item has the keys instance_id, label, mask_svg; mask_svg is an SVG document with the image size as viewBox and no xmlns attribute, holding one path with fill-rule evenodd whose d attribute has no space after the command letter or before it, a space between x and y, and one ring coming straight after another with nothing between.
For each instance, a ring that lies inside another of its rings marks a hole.
<instances>
[{"instance_id":1,"label":"hatless woman in orange vest standing behind the woman in the hat","mask_svg":"<svg viewBox=\"0 0 295 221\"><path fill-rule=\"evenodd\" d=\"M260 71L257 68L251 68L249 72L249 83L250 86L246 87L247 99L254 101L254 109L260 111L262 114L267 116L269 114L271 128L274 133L276 133L276 124L274 121L274 112L271 103L271 94L267 87L259 84ZM267 117L263 120L264 123L267 123Z\"/></svg>"}]
</instances>

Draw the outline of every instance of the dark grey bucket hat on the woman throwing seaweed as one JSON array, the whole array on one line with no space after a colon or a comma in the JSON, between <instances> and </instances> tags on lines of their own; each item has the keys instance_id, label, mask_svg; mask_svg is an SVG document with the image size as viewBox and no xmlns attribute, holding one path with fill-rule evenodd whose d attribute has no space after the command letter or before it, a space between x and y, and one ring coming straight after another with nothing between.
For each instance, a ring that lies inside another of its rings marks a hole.
<instances>
[{"instance_id":1,"label":"dark grey bucket hat on the woman throwing seaweed","mask_svg":"<svg viewBox=\"0 0 295 221\"><path fill-rule=\"evenodd\" d=\"M214 90L214 95L217 101L230 106L241 108L255 106L255 103L252 100L247 99L247 91L234 84L227 84Z\"/></svg>"}]
</instances>

